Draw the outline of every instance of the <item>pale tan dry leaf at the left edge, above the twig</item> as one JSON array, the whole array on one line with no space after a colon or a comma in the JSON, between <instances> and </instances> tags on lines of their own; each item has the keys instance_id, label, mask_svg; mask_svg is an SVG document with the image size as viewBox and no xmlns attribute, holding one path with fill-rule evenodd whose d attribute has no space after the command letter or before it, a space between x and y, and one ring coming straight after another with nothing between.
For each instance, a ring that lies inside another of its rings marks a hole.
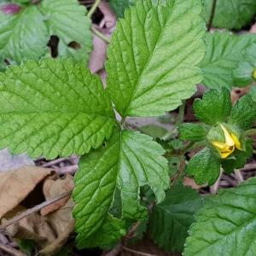
<instances>
[{"instance_id":1,"label":"pale tan dry leaf at the left edge, above the twig","mask_svg":"<svg viewBox=\"0 0 256 256\"><path fill-rule=\"evenodd\" d=\"M0 173L0 219L23 201L45 177L54 171L37 166L24 166Z\"/></svg>"}]
</instances>

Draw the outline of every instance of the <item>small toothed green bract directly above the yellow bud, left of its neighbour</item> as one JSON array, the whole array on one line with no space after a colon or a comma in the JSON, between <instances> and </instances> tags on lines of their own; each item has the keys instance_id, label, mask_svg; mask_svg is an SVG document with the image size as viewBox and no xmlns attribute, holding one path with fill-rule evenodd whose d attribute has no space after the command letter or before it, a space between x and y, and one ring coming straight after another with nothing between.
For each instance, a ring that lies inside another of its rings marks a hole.
<instances>
[{"instance_id":1,"label":"small toothed green bract directly above the yellow bud, left of its neighbour","mask_svg":"<svg viewBox=\"0 0 256 256\"><path fill-rule=\"evenodd\" d=\"M230 116L232 108L230 91L225 88L209 90L202 99L195 99L193 108L195 116L207 125L224 122Z\"/></svg>"}]
</instances>

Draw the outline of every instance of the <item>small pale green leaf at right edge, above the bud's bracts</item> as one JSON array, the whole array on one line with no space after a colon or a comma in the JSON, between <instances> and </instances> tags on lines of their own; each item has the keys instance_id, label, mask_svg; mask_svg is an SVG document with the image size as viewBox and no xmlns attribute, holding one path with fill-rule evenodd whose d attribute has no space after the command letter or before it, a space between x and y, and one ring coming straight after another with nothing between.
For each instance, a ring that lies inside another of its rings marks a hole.
<instances>
[{"instance_id":1,"label":"small pale green leaf at right edge, above the bud's bracts","mask_svg":"<svg viewBox=\"0 0 256 256\"><path fill-rule=\"evenodd\" d=\"M238 63L238 67L233 72L233 78L237 85L247 86L256 81L253 71L256 70L256 44L245 49L243 60Z\"/></svg>"}]
</instances>

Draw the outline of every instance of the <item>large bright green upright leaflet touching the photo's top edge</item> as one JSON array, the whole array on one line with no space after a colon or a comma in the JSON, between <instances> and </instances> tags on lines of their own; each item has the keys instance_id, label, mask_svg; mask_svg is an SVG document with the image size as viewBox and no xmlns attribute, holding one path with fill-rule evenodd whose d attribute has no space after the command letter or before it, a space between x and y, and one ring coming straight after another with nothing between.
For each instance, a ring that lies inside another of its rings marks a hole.
<instances>
[{"instance_id":1,"label":"large bright green upright leaflet touching the photo's top edge","mask_svg":"<svg viewBox=\"0 0 256 256\"><path fill-rule=\"evenodd\" d=\"M201 0L145 0L127 9L108 47L108 90L123 116L173 110L201 81Z\"/></svg>"}]
</instances>

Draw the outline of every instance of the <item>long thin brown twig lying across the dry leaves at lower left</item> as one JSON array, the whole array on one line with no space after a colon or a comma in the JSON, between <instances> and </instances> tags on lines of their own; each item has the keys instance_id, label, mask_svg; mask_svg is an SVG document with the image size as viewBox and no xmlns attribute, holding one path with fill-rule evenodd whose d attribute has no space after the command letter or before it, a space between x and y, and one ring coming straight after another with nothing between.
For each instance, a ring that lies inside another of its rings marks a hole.
<instances>
[{"instance_id":1,"label":"long thin brown twig lying across the dry leaves at lower left","mask_svg":"<svg viewBox=\"0 0 256 256\"><path fill-rule=\"evenodd\" d=\"M0 230L6 229L7 227L9 227L9 225L15 224L16 222L20 221L20 219L26 218L27 216L31 215L33 212L38 212L42 208L47 207L51 204L54 204L56 201L60 201L61 199L67 197L68 195L71 195L71 193L72 193L72 190L69 190L61 195L57 195L55 198L53 198L49 201L44 201L43 203L41 203L35 207L32 207L30 209L27 209L24 212L21 212L19 215L16 215L14 218L10 218L4 224L0 225Z\"/></svg>"}]
</instances>

